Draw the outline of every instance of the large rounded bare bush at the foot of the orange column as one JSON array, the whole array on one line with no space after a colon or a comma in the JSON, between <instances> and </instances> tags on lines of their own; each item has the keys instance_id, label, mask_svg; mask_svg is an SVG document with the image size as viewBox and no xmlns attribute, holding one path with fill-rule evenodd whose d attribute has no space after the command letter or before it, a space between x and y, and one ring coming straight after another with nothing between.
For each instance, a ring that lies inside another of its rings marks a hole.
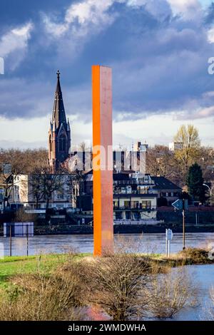
<instances>
[{"instance_id":1,"label":"large rounded bare bush at the foot of the orange column","mask_svg":"<svg viewBox=\"0 0 214 335\"><path fill-rule=\"evenodd\" d=\"M98 258L88 267L88 303L116 321L141 318L149 297L149 265L133 254Z\"/></svg>"}]
</instances>

